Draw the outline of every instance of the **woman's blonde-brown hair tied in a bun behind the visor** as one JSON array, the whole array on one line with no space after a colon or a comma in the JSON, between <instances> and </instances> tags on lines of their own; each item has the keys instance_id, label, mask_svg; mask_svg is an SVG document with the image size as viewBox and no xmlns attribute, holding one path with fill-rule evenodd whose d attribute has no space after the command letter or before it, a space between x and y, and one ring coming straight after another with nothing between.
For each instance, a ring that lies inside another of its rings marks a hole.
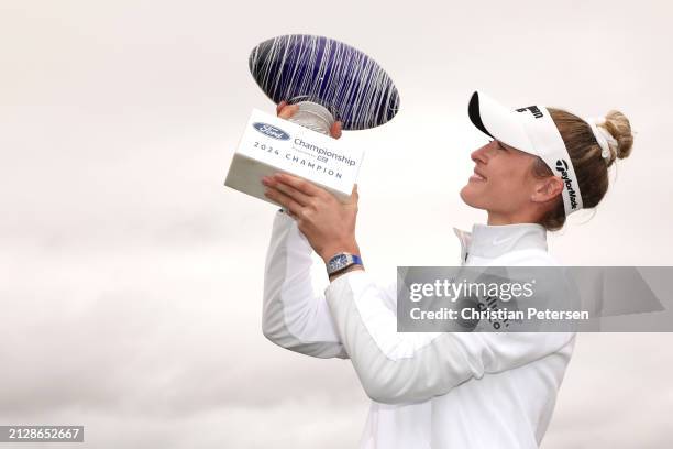
<instances>
[{"instance_id":1,"label":"woman's blonde-brown hair tied in a bun behind the visor","mask_svg":"<svg viewBox=\"0 0 673 449\"><path fill-rule=\"evenodd\" d=\"M575 168L580 191L582 193L582 204L585 209L596 207L607 193L608 167L615 163L615 160L625 158L631 154L633 146L631 124L626 116L619 111L613 110L605 116L605 123L599 127L605 128L618 145L616 152L610 149L609 157L603 158L600 155L602 149L587 122L562 109L548 108L548 110L563 138ZM539 178L553 176L551 168L540 157L533 163L532 173L533 176ZM539 221L550 231L556 231L565 225L565 211L561 195L555 201L555 205Z\"/></svg>"}]
</instances>

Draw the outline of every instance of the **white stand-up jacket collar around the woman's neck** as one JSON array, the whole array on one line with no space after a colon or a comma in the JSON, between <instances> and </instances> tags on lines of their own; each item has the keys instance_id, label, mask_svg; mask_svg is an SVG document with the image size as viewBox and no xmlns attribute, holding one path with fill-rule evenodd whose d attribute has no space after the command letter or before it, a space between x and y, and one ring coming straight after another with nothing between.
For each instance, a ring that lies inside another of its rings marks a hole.
<instances>
[{"instance_id":1,"label":"white stand-up jacket collar around the woman's neck","mask_svg":"<svg viewBox=\"0 0 673 449\"><path fill-rule=\"evenodd\" d=\"M547 230L537 223L474 225L472 232L453 228L461 241L461 261L471 255L495 259L510 251L541 249L547 251Z\"/></svg>"}]
</instances>

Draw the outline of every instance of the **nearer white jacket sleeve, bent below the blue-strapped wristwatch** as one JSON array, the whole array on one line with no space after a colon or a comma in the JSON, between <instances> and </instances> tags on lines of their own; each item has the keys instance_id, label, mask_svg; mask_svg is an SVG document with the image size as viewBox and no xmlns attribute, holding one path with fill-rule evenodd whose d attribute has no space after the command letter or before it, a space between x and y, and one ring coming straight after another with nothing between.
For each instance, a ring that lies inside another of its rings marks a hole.
<instances>
[{"instance_id":1,"label":"nearer white jacket sleeve, bent below the blue-strapped wristwatch","mask_svg":"<svg viewBox=\"0 0 673 449\"><path fill-rule=\"evenodd\" d=\"M510 370L561 350L574 333L397 332L396 315L365 272L334 280L327 300L366 394L399 404L427 401L485 373Z\"/></svg>"}]
</instances>

